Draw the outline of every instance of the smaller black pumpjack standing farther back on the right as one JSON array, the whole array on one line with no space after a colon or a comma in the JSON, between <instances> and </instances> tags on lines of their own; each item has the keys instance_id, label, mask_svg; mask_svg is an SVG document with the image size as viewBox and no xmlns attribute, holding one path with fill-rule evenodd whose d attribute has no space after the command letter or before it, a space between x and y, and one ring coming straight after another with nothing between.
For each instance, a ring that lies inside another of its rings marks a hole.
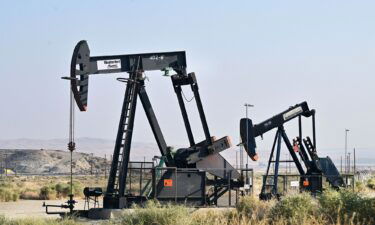
<instances>
[{"instance_id":1,"label":"smaller black pumpjack standing farther back on the right","mask_svg":"<svg viewBox=\"0 0 375 225\"><path fill-rule=\"evenodd\" d=\"M312 140L310 137L303 139L302 137L302 117L312 118ZM299 135L293 139L293 144L289 140L284 124L298 118ZM309 109L307 102L302 102L289 109L259 123L253 124L249 118L242 118L240 120L240 135L245 150L253 161L257 161L259 156L256 151L255 138L263 137L263 134L276 130L276 135L273 141L271 154L269 156L266 175L263 178L263 184L260 199L268 200L273 197L279 198L278 192L278 175L279 165L281 162L294 162L299 175L301 190L309 191L313 194L322 192L322 178L325 177L333 188L340 188L345 186L344 180L337 170L335 164L330 157L320 158L316 151L316 130L315 130L315 110ZM289 154L292 157L291 161L280 160L281 141L284 141ZM276 155L275 155L276 149ZM299 155L300 159L298 159ZM302 163L301 163L302 162ZM270 166L274 163L273 175L270 175ZM271 184L268 178L273 178Z\"/></svg>"}]
</instances>

